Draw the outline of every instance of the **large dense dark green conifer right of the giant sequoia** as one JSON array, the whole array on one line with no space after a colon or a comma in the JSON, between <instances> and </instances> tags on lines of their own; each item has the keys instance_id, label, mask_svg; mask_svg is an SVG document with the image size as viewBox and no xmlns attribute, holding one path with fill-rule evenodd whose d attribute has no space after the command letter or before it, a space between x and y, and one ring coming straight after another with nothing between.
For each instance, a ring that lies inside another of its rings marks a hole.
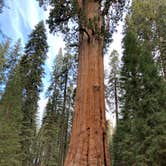
<instances>
[{"instance_id":1,"label":"large dense dark green conifer right of the giant sequoia","mask_svg":"<svg viewBox=\"0 0 166 166\"><path fill-rule=\"evenodd\" d=\"M165 165L165 83L147 48L126 30L114 165Z\"/></svg>"}]
</instances>

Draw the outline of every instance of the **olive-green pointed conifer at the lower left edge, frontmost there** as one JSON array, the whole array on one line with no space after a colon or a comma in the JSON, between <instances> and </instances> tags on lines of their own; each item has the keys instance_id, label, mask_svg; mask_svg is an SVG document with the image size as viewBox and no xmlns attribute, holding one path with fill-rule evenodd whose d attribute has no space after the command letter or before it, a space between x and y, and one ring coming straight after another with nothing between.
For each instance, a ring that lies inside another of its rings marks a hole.
<instances>
[{"instance_id":1,"label":"olive-green pointed conifer at the lower left edge, frontmost there","mask_svg":"<svg viewBox=\"0 0 166 166\"><path fill-rule=\"evenodd\" d=\"M0 102L0 165L21 165L21 100L21 82L17 68L8 81Z\"/></svg>"}]
</instances>

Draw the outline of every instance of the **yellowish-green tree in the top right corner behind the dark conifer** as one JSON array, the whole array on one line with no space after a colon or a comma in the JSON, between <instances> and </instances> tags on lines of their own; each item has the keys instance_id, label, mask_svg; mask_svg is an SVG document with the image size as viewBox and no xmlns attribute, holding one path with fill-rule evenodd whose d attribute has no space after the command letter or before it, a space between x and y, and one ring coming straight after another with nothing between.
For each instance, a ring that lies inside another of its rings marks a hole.
<instances>
[{"instance_id":1,"label":"yellowish-green tree in the top right corner behind the dark conifer","mask_svg":"<svg viewBox=\"0 0 166 166\"><path fill-rule=\"evenodd\" d=\"M155 0L134 0L131 7L131 12L134 14L128 19L128 24L140 39L147 41L147 47L153 51L152 55L155 56L161 67L161 73L166 78L165 7L164 0L159 3Z\"/></svg>"}]
</instances>

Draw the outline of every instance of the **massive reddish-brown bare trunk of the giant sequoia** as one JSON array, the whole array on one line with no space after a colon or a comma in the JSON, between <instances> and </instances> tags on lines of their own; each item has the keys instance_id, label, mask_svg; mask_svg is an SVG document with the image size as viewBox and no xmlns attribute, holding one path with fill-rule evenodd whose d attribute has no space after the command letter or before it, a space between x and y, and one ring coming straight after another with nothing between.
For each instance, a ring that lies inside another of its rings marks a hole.
<instances>
[{"instance_id":1,"label":"massive reddish-brown bare trunk of the giant sequoia","mask_svg":"<svg viewBox=\"0 0 166 166\"><path fill-rule=\"evenodd\" d=\"M102 18L99 2L85 1L86 18ZM80 32L75 114L65 166L110 166L104 102L103 37L94 29Z\"/></svg>"}]
</instances>

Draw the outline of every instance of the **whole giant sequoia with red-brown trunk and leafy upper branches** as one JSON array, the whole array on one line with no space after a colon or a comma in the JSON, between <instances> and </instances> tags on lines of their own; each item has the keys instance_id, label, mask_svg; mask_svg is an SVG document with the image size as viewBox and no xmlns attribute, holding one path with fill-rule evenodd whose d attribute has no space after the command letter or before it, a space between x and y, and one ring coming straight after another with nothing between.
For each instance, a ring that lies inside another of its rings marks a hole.
<instances>
[{"instance_id":1,"label":"whole giant sequoia with red-brown trunk and leafy upper branches","mask_svg":"<svg viewBox=\"0 0 166 166\"><path fill-rule=\"evenodd\" d=\"M52 6L48 19L50 31L61 31L66 39L72 39L72 45L79 45L75 114L65 166L110 165L103 48L114 30L124 0L50 0L49 4Z\"/></svg>"}]
</instances>

